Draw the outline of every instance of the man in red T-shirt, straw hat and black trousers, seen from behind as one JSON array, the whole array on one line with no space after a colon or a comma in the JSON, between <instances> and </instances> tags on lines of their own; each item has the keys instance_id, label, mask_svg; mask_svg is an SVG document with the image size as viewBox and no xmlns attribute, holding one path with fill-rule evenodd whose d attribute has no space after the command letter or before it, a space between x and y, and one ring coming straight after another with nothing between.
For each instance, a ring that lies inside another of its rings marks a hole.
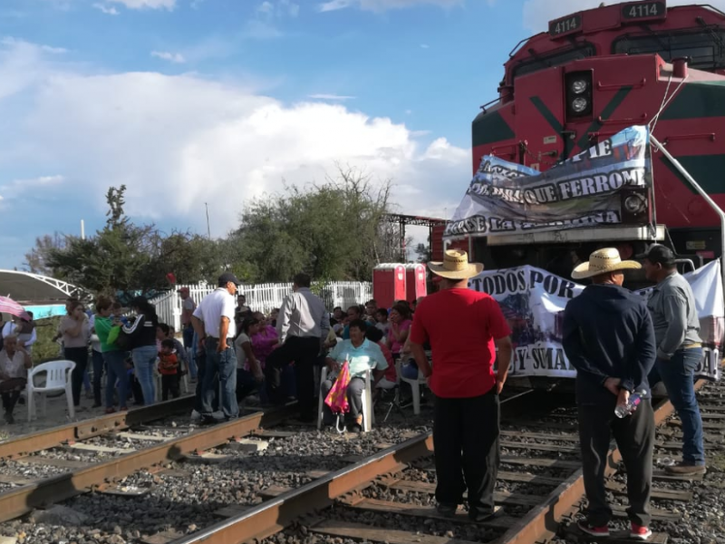
<instances>
[{"instance_id":1,"label":"man in red T-shirt, straw hat and black trousers, seen from behind","mask_svg":"<svg viewBox=\"0 0 725 544\"><path fill-rule=\"evenodd\" d=\"M433 446L438 511L453 516L469 492L469 518L494 515L493 492L499 463L499 404L511 360L511 330L498 302L470 290L468 280L483 265L465 251L449 249L443 262L428 264L440 291L416 308L411 352L435 395ZM432 368L423 344L430 342ZM498 359L498 373L493 364Z\"/></svg>"}]
</instances>

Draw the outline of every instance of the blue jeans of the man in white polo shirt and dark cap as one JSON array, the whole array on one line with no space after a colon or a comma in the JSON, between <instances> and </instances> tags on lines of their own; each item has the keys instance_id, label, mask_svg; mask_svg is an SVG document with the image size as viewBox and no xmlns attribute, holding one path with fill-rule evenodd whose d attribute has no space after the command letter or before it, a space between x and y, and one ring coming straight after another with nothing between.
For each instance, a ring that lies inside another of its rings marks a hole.
<instances>
[{"instance_id":1,"label":"blue jeans of the man in white polo shirt and dark cap","mask_svg":"<svg viewBox=\"0 0 725 544\"><path fill-rule=\"evenodd\" d=\"M230 339L228 340L231 341ZM221 384L221 411L224 417L231 419L239 415L237 404L237 355L234 348L227 345L223 352L217 352L218 340L207 338L207 367L204 371L204 385L201 395L201 415L210 418L214 413L214 398L217 395L215 377Z\"/></svg>"}]
</instances>

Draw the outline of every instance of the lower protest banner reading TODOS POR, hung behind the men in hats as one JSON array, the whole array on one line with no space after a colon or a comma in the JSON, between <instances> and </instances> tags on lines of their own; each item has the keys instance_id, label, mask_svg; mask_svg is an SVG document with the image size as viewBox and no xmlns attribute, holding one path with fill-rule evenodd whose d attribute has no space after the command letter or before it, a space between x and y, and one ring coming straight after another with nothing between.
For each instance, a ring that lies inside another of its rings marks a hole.
<instances>
[{"instance_id":1,"label":"lower protest banner reading TODOS POR, hung behind the men in hats","mask_svg":"<svg viewBox=\"0 0 725 544\"><path fill-rule=\"evenodd\" d=\"M712 261L684 277L695 294L705 351L696 374L719 380L725 332L720 261ZM575 377L576 370L561 345L563 312L566 303L579 295L584 286L526 266L481 272L469 280L469 288L493 296L506 316L514 345L512 376ZM639 293L647 296L648 291Z\"/></svg>"}]
</instances>

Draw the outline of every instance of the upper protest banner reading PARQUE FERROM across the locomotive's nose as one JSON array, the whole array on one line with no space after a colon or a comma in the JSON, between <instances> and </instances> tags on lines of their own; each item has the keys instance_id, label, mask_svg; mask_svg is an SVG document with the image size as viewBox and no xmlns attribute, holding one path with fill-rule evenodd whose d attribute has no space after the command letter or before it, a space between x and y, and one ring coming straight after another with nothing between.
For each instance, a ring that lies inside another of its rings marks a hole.
<instances>
[{"instance_id":1,"label":"upper protest banner reading PARQUE FERROM across the locomotive's nose","mask_svg":"<svg viewBox=\"0 0 725 544\"><path fill-rule=\"evenodd\" d=\"M486 155L444 236L619 224L625 201L626 213L646 220L646 192L652 187L649 138L647 127L631 127L544 173Z\"/></svg>"}]
</instances>

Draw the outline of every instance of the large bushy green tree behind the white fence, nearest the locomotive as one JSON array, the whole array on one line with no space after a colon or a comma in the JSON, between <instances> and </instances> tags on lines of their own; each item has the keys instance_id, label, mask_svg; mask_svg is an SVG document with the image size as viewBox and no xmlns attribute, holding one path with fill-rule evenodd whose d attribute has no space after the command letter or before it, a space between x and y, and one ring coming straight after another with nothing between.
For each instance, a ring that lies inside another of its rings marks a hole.
<instances>
[{"instance_id":1,"label":"large bushy green tree behind the white fence, nearest the locomotive","mask_svg":"<svg viewBox=\"0 0 725 544\"><path fill-rule=\"evenodd\" d=\"M372 277L390 240L382 216L391 184L373 183L359 170L251 202L241 214L235 267L252 282L288 281L304 271L316 280Z\"/></svg>"}]
</instances>

